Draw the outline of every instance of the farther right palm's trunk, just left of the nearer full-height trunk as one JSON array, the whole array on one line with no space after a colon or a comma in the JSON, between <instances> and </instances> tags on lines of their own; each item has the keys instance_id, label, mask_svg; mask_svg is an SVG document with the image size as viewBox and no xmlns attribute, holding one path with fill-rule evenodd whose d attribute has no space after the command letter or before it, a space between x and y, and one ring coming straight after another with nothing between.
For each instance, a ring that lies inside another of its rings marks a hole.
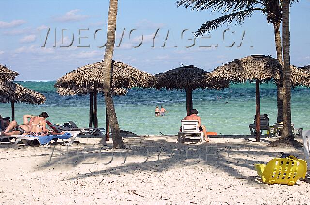
<instances>
[{"instance_id":1,"label":"farther right palm's trunk, just left of the nearer full-height trunk","mask_svg":"<svg viewBox=\"0 0 310 205\"><path fill-rule=\"evenodd\" d=\"M282 64L283 62L282 61L282 39L281 39L281 33L280 33L280 25L281 25L281 21L274 23L273 29L274 29L274 34L275 34L277 59L279 63ZM277 109L278 109L277 122L283 122L283 93L284 93L283 81L279 81L278 86L277 86Z\"/></svg>"}]
</instances>

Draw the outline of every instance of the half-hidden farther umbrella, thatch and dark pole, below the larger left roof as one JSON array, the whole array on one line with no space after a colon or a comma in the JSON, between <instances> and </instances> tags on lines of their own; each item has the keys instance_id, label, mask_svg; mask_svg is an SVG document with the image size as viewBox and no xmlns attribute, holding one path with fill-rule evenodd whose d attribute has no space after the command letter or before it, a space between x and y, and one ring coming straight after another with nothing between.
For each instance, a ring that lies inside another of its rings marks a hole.
<instances>
[{"instance_id":1,"label":"half-hidden farther umbrella, thatch and dark pole, below the larger left roof","mask_svg":"<svg viewBox=\"0 0 310 205\"><path fill-rule=\"evenodd\" d=\"M97 90L98 92L103 92L103 89L99 88ZM74 89L69 89L69 88L57 88L57 93L60 95L87 95L90 94L90 109L89 109L89 127L93 126L93 92L94 88L74 88ZM112 88L111 89L111 94L112 95L126 95L128 91L124 88Z\"/></svg>"}]
</instances>

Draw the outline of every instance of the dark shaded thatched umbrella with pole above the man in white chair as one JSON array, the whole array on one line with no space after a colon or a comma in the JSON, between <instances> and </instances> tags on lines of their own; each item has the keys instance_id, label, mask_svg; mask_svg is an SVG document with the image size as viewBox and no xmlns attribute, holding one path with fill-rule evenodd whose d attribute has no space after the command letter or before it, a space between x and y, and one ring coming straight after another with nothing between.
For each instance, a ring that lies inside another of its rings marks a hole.
<instances>
[{"instance_id":1,"label":"dark shaded thatched umbrella with pole above the man in white chair","mask_svg":"<svg viewBox=\"0 0 310 205\"><path fill-rule=\"evenodd\" d=\"M186 91L186 111L187 115L190 115L190 111L193 109L193 90L198 88L221 89L229 86L226 81L218 81L214 84L203 81L204 74L207 73L209 72L193 65L175 68L155 75L157 79L156 88Z\"/></svg>"}]
</instances>

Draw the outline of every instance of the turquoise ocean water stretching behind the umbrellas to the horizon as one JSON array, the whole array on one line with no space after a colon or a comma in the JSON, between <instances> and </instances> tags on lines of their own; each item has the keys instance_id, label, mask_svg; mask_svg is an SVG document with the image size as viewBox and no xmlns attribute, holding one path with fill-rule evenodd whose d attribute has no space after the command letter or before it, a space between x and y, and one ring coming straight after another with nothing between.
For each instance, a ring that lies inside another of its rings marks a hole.
<instances>
[{"instance_id":1,"label":"turquoise ocean water stretching behind the umbrellas to the horizon","mask_svg":"<svg viewBox=\"0 0 310 205\"><path fill-rule=\"evenodd\" d=\"M63 124L69 120L79 127L88 127L89 95L60 96L53 87L55 81L21 81L24 87L38 91L47 97L42 105L15 104L15 119L22 123L24 114L49 114L52 123ZM270 124L277 118L277 89L273 83L260 86L261 114L268 114ZM295 127L310 129L310 89L292 89L291 110ZM176 134L180 120L186 116L186 93L155 89L134 88L125 96L114 96L120 128L136 134ZM227 102L227 103L226 103ZM164 106L165 117L155 117L155 106ZM223 90L195 90L193 107L202 117L208 131L218 134L249 134L248 124L255 115L255 84L234 84ZM2 117L11 116L11 105L0 104ZM105 103L98 94L98 124L105 127ZM266 133L266 132L263 132Z\"/></svg>"}]
</instances>

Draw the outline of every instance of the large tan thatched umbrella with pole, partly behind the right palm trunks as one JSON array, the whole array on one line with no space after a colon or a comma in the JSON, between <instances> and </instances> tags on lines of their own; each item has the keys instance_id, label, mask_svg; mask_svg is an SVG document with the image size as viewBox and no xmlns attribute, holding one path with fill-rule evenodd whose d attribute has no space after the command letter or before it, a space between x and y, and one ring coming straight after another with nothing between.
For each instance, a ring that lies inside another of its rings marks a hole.
<instances>
[{"instance_id":1,"label":"large tan thatched umbrella with pole, partly behind the right palm trunks","mask_svg":"<svg viewBox=\"0 0 310 205\"><path fill-rule=\"evenodd\" d=\"M254 82L256 83L256 141L260 141L260 91L261 82L278 81L281 79L282 66L277 59L264 55L251 55L242 59L236 59L217 67L205 75L205 81L216 83L226 80L232 83ZM291 66L292 86L308 85L310 75L302 69ZM310 85L310 84L309 84Z\"/></svg>"}]
</instances>

